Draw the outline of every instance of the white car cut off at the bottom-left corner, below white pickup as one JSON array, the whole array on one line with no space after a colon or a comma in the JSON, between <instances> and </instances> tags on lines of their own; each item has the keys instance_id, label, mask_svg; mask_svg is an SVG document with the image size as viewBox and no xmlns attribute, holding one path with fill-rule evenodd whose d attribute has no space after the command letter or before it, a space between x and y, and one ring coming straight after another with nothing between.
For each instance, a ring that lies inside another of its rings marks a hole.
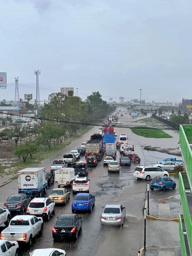
<instances>
[{"instance_id":1,"label":"white car cut off at the bottom-left corner, below white pickup","mask_svg":"<svg viewBox=\"0 0 192 256\"><path fill-rule=\"evenodd\" d=\"M0 255L18 256L18 252L17 241L0 240Z\"/></svg>"}]
</instances>

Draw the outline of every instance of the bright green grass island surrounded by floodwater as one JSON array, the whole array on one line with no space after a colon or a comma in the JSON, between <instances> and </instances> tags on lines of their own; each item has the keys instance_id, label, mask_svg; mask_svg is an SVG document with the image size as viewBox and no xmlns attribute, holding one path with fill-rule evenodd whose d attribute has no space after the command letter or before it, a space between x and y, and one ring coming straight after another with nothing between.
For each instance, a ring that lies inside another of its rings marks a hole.
<instances>
[{"instance_id":1,"label":"bright green grass island surrounded by floodwater","mask_svg":"<svg viewBox=\"0 0 192 256\"><path fill-rule=\"evenodd\" d=\"M131 131L139 136L143 136L145 138L173 138L171 135L165 133L163 130L160 129L152 129L146 126L138 126L130 128Z\"/></svg>"}]
</instances>

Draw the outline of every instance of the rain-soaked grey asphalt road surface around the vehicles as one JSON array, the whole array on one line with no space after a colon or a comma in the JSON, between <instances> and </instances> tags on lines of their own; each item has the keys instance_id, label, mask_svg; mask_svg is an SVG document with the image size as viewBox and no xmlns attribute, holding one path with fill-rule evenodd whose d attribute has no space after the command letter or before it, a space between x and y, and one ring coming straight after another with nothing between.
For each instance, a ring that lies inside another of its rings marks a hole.
<instances>
[{"instance_id":1,"label":"rain-soaked grey asphalt road surface around the vehicles","mask_svg":"<svg viewBox=\"0 0 192 256\"><path fill-rule=\"evenodd\" d=\"M123 112L124 114L125 112ZM125 120L126 115L122 119ZM121 121L121 118L119 118ZM96 131L97 127L94 127L89 132L84 134L81 138L73 141L65 152L60 151L53 157L46 159L39 166L45 166L48 170L51 161L62 157L63 153L68 153L72 149L77 149L81 142L89 139L89 136ZM146 151L141 147L139 137L136 140L131 140L131 131L126 128L115 128L117 131L117 137L121 133L126 133L129 138L129 144L135 145L135 151L141 158L140 165L155 164L157 160L164 159L170 155L159 153L155 151ZM150 141L153 139L145 138L146 144L150 145ZM159 139L160 140L160 139ZM167 139L169 140L169 139ZM143 141L143 137L142 137ZM157 145L158 146L158 145ZM177 145L173 145L176 147ZM66 152L67 150L67 152ZM119 159L120 153L117 153L117 159ZM178 157L177 157L178 158ZM84 159L84 157L81 157ZM179 159L179 158L178 158ZM138 249L143 247L143 213L142 209L146 200L147 182L143 180L137 180L133 176L133 171L138 163L131 163L131 167L121 167L119 173L108 173L107 167L103 167L103 161L98 162L98 166L95 168L89 168L88 177L90 179L90 193L95 196L95 207L91 213L77 212L82 217L83 228L79 234L77 242L74 241L62 241L54 242L52 238L52 227L54 226L57 216L61 213L71 213L71 202L74 195L72 190L70 202L64 205L56 206L56 214L50 218L49 222L44 223L43 235L34 239L31 248L21 247L19 256L29 255L30 251L38 248L60 248L64 249L67 256L88 256L88 255L137 255ZM150 191L150 199L161 199L171 195L178 195L178 176L171 175L171 178L176 181L176 190L167 190L165 193L161 191ZM1 203L7 198L7 195L17 193L17 180L11 182L10 188L8 186L2 187ZM46 191L46 196L50 194L50 191L55 188L54 184L50 189ZM124 226L119 227L104 227L100 226L100 215L102 212L102 206L107 203L119 203L126 207L126 219ZM155 231L154 231L155 235Z\"/></svg>"}]
</instances>

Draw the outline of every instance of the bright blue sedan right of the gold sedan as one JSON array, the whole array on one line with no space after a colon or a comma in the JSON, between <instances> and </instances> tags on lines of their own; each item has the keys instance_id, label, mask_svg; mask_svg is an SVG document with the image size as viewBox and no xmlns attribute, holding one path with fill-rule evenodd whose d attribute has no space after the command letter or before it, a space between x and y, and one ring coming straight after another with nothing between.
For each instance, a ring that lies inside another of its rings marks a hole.
<instances>
[{"instance_id":1,"label":"bright blue sedan right of the gold sedan","mask_svg":"<svg viewBox=\"0 0 192 256\"><path fill-rule=\"evenodd\" d=\"M89 211L91 213L95 206L95 197L89 193L78 193L71 205L71 210L74 213L77 211Z\"/></svg>"}]
</instances>

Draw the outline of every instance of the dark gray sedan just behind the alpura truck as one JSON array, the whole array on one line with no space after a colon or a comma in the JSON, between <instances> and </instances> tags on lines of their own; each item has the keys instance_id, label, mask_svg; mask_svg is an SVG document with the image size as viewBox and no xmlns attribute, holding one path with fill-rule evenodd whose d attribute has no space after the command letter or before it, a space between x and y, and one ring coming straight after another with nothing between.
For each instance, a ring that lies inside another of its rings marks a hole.
<instances>
[{"instance_id":1,"label":"dark gray sedan just behind the alpura truck","mask_svg":"<svg viewBox=\"0 0 192 256\"><path fill-rule=\"evenodd\" d=\"M17 212L25 214L25 210L31 201L31 197L26 194L13 194L7 198L4 203L4 209L8 209L10 212Z\"/></svg>"}]
</instances>

